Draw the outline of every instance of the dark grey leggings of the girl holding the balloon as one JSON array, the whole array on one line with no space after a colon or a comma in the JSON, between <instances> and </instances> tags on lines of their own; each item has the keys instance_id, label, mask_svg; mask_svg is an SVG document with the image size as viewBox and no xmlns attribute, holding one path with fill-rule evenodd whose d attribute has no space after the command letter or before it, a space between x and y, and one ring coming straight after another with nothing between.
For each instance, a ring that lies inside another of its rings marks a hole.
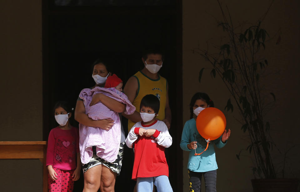
<instances>
[{"instance_id":1,"label":"dark grey leggings of the girl holding the balloon","mask_svg":"<svg viewBox=\"0 0 300 192\"><path fill-rule=\"evenodd\" d=\"M207 171L207 172L193 172L188 170L188 176L190 178L189 188L190 191L201 192L201 179L204 176L205 191L206 192L216 192L216 182L217 182L217 170Z\"/></svg>"}]
</instances>

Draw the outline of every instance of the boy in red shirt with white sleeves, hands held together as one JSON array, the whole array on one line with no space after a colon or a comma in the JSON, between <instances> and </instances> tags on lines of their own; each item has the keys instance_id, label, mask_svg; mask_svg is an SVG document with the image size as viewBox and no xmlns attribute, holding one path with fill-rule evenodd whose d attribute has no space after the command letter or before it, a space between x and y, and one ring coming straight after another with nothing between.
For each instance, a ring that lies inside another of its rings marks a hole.
<instances>
[{"instance_id":1,"label":"boy in red shirt with white sleeves, hands held together","mask_svg":"<svg viewBox=\"0 0 300 192\"><path fill-rule=\"evenodd\" d=\"M150 94L143 97L140 105L142 122L137 122L129 131L126 145L134 150L132 179L137 180L137 190L158 192L173 191L169 182L169 168L165 148L172 144L168 127L155 117L159 111L159 100Z\"/></svg>"}]
</instances>

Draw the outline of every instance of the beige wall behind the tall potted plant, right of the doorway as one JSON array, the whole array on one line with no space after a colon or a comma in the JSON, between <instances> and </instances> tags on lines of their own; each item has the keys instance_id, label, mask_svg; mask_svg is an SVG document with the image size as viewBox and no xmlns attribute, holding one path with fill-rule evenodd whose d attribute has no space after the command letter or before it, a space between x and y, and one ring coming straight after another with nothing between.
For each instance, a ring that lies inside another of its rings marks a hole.
<instances>
[{"instance_id":1,"label":"beige wall behind the tall potted plant, right of the doorway","mask_svg":"<svg viewBox=\"0 0 300 192\"><path fill-rule=\"evenodd\" d=\"M235 24L243 21L255 23L262 17L268 8L268 1L254 0L251 3L237 0L221 0L225 9L227 5ZM299 156L299 124L297 120L299 104L299 1L275 0L267 17L263 22L263 28L270 36L276 34L281 28L281 43L275 45L276 39L267 42L263 53L269 62L268 75L263 84L266 91L274 92L276 104L268 113L267 119L271 123L272 136L278 148L284 152L293 144L297 146L288 153L288 166L292 171L286 171L286 177L300 178ZM189 119L189 102L195 92L206 92L214 101L216 107L224 109L229 93L222 82L212 79L210 70L204 71L202 82L197 78L200 69L210 67L199 55L190 51L198 47L206 49L206 41L220 42L222 28L217 27L215 18L222 19L217 1L183 1L183 122ZM277 71L279 71L277 73ZM234 113L225 112L227 127L231 128L232 135L227 145L216 150L218 163L217 191L252 191L251 181L253 178L250 166L251 160L246 156L238 161L236 154L240 149L247 147L246 135L240 130L241 125L235 118L239 118L237 110ZM248 153L244 153L248 155ZM274 150L274 161L282 166L282 156L276 157L277 150ZM183 191L188 191L187 179L188 154L183 154ZM280 170L277 170L280 171Z\"/></svg>"}]
</instances>

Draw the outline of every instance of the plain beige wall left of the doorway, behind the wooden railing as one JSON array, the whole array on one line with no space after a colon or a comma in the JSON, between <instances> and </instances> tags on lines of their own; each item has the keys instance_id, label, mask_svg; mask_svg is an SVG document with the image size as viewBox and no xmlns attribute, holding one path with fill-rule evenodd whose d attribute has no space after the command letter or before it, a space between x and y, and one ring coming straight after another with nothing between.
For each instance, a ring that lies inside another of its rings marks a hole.
<instances>
[{"instance_id":1,"label":"plain beige wall left of the doorway, behind the wooden railing","mask_svg":"<svg viewBox=\"0 0 300 192\"><path fill-rule=\"evenodd\" d=\"M0 1L0 141L42 140L42 4ZM1 191L42 191L39 160L0 160Z\"/></svg>"}]
</instances>

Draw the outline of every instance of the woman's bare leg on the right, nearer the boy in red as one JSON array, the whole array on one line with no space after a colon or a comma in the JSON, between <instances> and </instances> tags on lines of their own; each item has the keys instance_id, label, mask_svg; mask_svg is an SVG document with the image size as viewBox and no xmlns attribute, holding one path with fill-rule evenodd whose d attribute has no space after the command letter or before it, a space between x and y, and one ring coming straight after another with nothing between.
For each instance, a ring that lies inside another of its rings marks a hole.
<instances>
[{"instance_id":1,"label":"woman's bare leg on the right, nearer the boy in red","mask_svg":"<svg viewBox=\"0 0 300 192\"><path fill-rule=\"evenodd\" d=\"M102 165L101 192L114 192L117 173Z\"/></svg>"}]
</instances>

